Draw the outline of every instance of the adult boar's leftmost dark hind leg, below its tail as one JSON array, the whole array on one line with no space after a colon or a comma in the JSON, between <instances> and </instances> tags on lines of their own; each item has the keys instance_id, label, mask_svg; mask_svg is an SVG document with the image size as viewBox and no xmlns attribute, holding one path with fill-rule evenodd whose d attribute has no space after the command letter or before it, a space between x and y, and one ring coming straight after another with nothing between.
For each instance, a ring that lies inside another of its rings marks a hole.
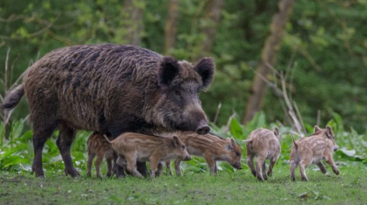
<instances>
[{"instance_id":1,"label":"adult boar's leftmost dark hind leg, below its tail","mask_svg":"<svg viewBox=\"0 0 367 205\"><path fill-rule=\"evenodd\" d=\"M33 150L34 160L32 164L32 174L36 173L36 177L44 178L44 171L42 168L42 150L47 139L52 135L56 128L56 123L49 123L49 120L41 121L37 117L33 117ZM45 123L48 122L48 123Z\"/></svg>"}]
</instances>

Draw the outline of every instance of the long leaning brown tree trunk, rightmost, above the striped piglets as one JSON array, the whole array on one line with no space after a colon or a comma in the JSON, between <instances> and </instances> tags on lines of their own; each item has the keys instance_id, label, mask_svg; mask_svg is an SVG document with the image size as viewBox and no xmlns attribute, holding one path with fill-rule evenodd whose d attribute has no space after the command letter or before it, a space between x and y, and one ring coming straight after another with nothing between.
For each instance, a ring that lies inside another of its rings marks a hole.
<instances>
[{"instance_id":1,"label":"long leaning brown tree trunk, rightmost, above the striped piglets","mask_svg":"<svg viewBox=\"0 0 367 205\"><path fill-rule=\"evenodd\" d=\"M270 68L267 67L267 63L271 65L275 64L276 55L283 39L285 24L287 23L293 8L293 2L293 0L280 0L278 3L279 11L273 16L270 24L271 32L265 41L261 53L261 62L256 68L257 74L254 76L252 93L247 102L246 112L242 118L243 124L249 122L254 114L261 108L266 88L266 83L261 79L261 77L268 78Z\"/></svg>"}]
</instances>

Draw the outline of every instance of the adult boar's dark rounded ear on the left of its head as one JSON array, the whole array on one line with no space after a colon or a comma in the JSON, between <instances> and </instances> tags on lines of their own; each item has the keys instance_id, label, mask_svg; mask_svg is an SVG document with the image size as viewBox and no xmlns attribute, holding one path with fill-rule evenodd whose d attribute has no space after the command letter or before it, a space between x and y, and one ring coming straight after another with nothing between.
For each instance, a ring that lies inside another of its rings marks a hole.
<instances>
[{"instance_id":1,"label":"adult boar's dark rounded ear on the left of its head","mask_svg":"<svg viewBox=\"0 0 367 205\"><path fill-rule=\"evenodd\" d=\"M179 74L179 68L180 64L176 59L170 56L164 57L158 69L158 85L168 86Z\"/></svg>"}]
</instances>

